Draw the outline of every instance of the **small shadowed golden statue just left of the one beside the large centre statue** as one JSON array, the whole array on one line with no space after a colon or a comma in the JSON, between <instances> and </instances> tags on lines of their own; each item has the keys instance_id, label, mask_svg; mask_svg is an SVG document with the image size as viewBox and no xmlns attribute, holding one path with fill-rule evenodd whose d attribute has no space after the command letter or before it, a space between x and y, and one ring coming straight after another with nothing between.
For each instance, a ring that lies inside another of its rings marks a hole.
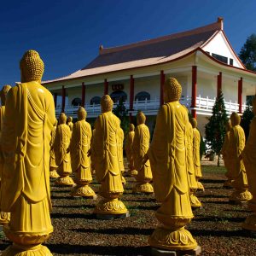
<instances>
[{"instance_id":1,"label":"small shadowed golden statue just left of the one beside the large centre statue","mask_svg":"<svg viewBox=\"0 0 256 256\"><path fill-rule=\"evenodd\" d=\"M133 139L134 139L134 133L135 133L134 130L135 130L134 125L130 124L129 132L128 132L128 134L126 136L126 140L125 140L125 153L126 153L126 157L128 160L128 168L129 168L128 174L130 176L137 175L137 171L134 168L134 157L133 157L132 150L131 150L131 146L132 146Z\"/></svg>"}]
</instances>

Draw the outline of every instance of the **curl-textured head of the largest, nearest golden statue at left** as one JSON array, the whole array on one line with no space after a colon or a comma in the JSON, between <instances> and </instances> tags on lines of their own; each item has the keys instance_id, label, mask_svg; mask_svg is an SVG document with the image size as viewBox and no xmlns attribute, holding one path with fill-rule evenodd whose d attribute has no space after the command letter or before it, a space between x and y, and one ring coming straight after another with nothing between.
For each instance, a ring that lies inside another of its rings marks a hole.
<instances>
[{"instance_id":1,"label":"curl-textured head of the largest, nearest golden statue at left","mask_svg":"<svg viewBox=\"0 0 256 256\"><path fill-rule=\"evenodd\" d=\"M41 60L37 51L30 49L26 51L20 60L21 83L38 81L44 73L44 62Z\"/></svg>"}]
</instances>

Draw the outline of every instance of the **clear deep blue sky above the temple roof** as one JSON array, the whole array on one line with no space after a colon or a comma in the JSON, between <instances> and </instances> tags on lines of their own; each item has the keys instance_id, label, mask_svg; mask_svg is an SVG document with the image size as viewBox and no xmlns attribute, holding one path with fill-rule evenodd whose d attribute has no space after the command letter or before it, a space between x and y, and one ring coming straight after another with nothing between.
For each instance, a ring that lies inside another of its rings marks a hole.
<instances>
[{"instance_id":1,"label":"clear deep blue sky above the temple roof","mask_svg":"<svg viewBox=\"0 0 256 256\"><path fill-rule=\"evenodd\" d=\"M20 81L27 49L44 60L44 80L84 67L99 45L111 47L182 32L224 17L237 53L256 32L256 1L41 0L1 1L0 87Z\"/></svg>"}]
</instances>

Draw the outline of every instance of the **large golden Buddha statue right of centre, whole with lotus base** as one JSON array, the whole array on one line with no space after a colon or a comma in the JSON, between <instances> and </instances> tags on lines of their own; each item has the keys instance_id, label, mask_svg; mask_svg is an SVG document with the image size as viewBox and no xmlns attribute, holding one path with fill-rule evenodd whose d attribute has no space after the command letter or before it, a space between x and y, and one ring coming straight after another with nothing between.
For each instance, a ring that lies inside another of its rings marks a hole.
<instances>
[{"instance_id":1,"label":"large golden Buddha statue right of centre, whole with lotus base","mask_svg":"<svg viewBox=\"0 0 256 256\"><path fill-rule=\"evenodd\" d=\"M189 198L186 127L188 113L178 102L182 87L176 79L164 84L165 104L156 118L154 137L148 149L154 195L161 202L156 218L161 224L149 237L151 247L191 250L197 243L184 226L194 217Z\"/></svg>"}]
</instances>

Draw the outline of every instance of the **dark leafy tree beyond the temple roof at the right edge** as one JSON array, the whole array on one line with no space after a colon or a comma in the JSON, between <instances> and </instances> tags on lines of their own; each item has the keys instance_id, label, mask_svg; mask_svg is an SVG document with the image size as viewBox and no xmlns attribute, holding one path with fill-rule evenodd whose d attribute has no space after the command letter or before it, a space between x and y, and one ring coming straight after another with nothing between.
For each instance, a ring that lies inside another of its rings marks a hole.
<instances>
[{"instance_id":1,"label":"dark leafy tree beyond the temple roof at the right edge","mask_svg":"<svg viewBox=\"0 0 256 256\"><path fill-rule=\"evenodd\" d=\"M247 69L256 71L256 34L252 34L241 47L239 57Z\"/></svg>"}]
</instances>

